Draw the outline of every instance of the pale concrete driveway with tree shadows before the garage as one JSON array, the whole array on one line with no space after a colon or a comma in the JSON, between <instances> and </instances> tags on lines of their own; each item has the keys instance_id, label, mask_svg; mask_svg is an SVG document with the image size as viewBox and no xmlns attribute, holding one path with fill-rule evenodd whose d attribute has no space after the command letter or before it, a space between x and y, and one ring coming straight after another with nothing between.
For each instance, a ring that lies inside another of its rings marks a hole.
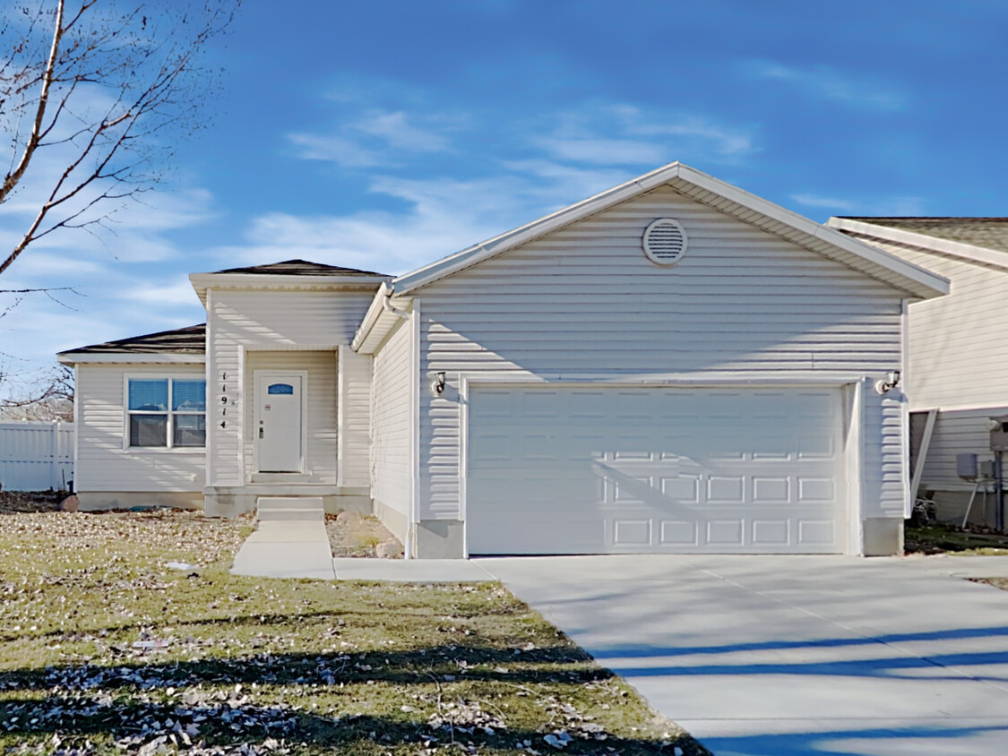
<instances>
[{"instance_id":1,"label":"pale concrete driveway with tree shadows before the garage","mask_svg":"<svg viewBox=\"0 0 1008 756\"><path fill-rule=\"evenodd\" d=\"M478 563L718 756L1008 753L1004 557Z\"/></svg>"}]
</instances>

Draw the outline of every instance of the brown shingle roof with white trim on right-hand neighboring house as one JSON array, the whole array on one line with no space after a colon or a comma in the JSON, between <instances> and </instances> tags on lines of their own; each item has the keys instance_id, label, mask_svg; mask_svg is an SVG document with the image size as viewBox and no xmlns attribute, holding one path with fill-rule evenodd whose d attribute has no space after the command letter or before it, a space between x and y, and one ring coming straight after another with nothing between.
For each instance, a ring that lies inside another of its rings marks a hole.
<instances>
[{"instance_id":1,"label":"brown shingle roof with white trim on right-hand neighboring house","mask_svg":"<svg viewBox=\"0 0 1008 756\"><path fill-rule=\"evenodd\" d=\"M827 225L1008 270L1008 218L836 217Z\"/></svg>"}]
</instances>

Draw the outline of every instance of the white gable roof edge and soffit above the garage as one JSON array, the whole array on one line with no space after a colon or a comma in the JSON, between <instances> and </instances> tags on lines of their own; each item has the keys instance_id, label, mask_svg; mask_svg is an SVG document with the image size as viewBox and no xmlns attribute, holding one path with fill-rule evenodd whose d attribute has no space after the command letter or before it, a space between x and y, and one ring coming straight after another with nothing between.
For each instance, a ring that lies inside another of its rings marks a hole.
<instances>
[{"instance_id":1,"label":"white gable roof edge and soffit above the garage","mask_svg":"<svg viewBox=\"0 0 1008 756\"><path fill-rule=\"evenodd\" d=\"M909 297L930 298L949 293L949 282L939 275L680 162L672 162L644 173L551 215L400 275L391 283L393 292L397 295L408 294L662 184L752 226L860 270L905 291Z\"/></svg>"}]
</instances>

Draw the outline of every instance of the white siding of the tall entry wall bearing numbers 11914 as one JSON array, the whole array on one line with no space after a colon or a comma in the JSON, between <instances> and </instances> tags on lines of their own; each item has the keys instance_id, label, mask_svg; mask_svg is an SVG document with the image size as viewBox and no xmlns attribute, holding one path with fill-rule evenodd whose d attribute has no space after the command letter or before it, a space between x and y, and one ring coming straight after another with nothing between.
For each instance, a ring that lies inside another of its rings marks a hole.
<instances>
[{"instance_id":1,"label":"white siding of the tall entry wall bearing numbers 11914","mask_svg":"<svg viewBox=\"0 0 1008 756\"><path fill-rule=\"evenodd\" d=\"M207 339L208 355L212 360L208 369L209 403L214 408L207 419L212 433L208 443L210 485L242 486L246 482L246 473L252 470L248 464L247 447L250 444L245 439L243 420L251 416L245 405L254 399L250 376L245 376L243 372L247 367L241 365L242 347L249 351L254 351L256 347L296 349L299 345L335 349L349 344L373 298L374 288L370 287L359 291L212 289L209 292ZM278 351L278 359L282 359L283 354ZM333 352L329 353L329 359L333 359ZM309 383L312 382L309 380ZM220 399L225 385L229 392L228 405ZM335 402L335 372L331 374L331 383L326 388L332 392ZM241 411L229 411L227 417L222 415L224 406L233 407L236 403ZM335 427L335 409L331 416L331 426ZM225 419L228 420L227 427L221 428ZM326 422L330 420L327 418ZM330 447L331 451L335 450L335 443ZM311 454L310 450L308 453ZM334 452L333 461L328 466L331 472L335 470L335 464ZM325 468L325 465L320 467Z\"/></svg>"}]
</instances>

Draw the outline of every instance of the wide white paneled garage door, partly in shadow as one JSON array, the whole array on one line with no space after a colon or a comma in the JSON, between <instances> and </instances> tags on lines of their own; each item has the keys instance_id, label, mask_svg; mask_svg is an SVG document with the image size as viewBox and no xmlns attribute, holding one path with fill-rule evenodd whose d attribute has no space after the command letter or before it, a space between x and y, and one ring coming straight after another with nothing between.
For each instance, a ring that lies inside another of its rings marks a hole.
<instances>
[{"instance_id":1,"label":"wide white paneled garage door, partly in shadow","mask_svg":"<svg viewBox=\"0 0 1008 756\"><path fill-rule=\"evenodd\" d=\"M469 552L834 553L839 389L479 387Z\"/></svg>"}]
</instances>

